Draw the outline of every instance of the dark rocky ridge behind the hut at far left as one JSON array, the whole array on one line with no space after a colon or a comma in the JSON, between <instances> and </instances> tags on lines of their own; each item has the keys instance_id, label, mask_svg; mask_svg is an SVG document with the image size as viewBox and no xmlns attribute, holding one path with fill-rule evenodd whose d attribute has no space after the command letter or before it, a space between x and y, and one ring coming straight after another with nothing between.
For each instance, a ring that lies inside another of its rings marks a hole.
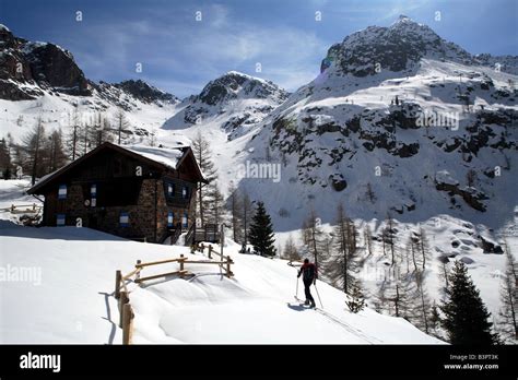
<instances>
[{"instance_id":1,"label":"dark rocky ridge behind the hut at far left","mask_svg":"<svg viewBox=\"0 0 518 380\"><path fill-rule=\"evenodd\" d=\"M132 100L175 104L178 99L141 80L116 84L89 81L72 54L55 44L33 43L0 25L0 98L34 99L44 92L92 96L131 109Z\"/></svg>"}]
</instances>

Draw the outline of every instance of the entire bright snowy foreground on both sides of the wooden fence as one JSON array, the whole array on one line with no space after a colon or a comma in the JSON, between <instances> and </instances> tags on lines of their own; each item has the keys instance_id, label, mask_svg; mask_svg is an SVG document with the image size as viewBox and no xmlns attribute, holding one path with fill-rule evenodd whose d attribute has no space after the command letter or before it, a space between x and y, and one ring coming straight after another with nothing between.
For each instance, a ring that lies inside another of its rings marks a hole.
<instances>
[{"instance_id":1,"label":"entire bright snowy foreground on both sides of the wooden fence","mask_svg":"<svg viewBox=\"0 0 518 380\"><path fill-rule=\"evenodd\" d=\"M16 183L2 181L5 189ZM9 185L7 185L9 183ZM2 194L4 194L2 192ZM4 201L7 201L4 199ZM12 202L17 199L12 198ZM0 214L5 217L5 214ZM120 343L117 269L131 271L138 259L152 261L186 247L128 241L87 228L21 227L0 221L2 273L33 270L27 281L0 287L1 343ZM228 280L212 266L189 265L197 276L130 285L136 343L440 343L402 319L365 309L346 311L344 295L319 282L325 311L304 309L293 298L296 269L286 261L237 253ZM148 270L168 272L174 265ZM298 294L302 295L302 286ZM304 334L304 331L314 331Z\"/></svg>"}]
</instances>

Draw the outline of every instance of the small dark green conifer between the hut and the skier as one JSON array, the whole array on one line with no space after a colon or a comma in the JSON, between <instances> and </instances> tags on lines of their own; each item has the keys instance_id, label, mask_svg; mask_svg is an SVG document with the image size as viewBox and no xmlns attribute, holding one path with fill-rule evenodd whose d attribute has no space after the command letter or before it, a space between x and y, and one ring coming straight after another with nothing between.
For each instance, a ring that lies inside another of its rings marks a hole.
<instances>
[{"instance_id":1,"label":"small dark green conifer between the hut and the skier","mask_svg":"<svg viewBox=\"0 0 518 380\"><path fill-rule=\"evenodd\" d=\"M256 253L269 257L275 256L273 226L262 202L257 202L248 238Z\"/></svg>"}]
</instances>

